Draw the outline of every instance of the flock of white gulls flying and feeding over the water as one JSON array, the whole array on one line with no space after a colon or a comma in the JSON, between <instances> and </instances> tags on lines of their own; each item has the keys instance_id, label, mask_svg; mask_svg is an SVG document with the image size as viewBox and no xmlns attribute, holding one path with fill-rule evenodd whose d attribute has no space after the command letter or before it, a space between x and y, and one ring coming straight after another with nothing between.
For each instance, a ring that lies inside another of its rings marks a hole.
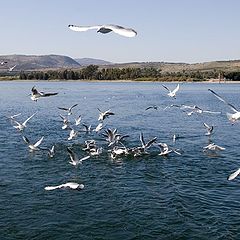
<instances>
[{"instance_id":1,"label":"flock of white gulls flying and feeding over the water","mask_svg":"<svg viewBox=\"0 0 240 240\"><path fill-rule=\"evenodd\" d=\"M167 95L170 98L176 98L177 92L180 89L180 85L177 84L177 87L174 90L170 90L167 86L162 84L162 87L164 89L167 89L168 93ZM226 113L228 120L233 124L236 121L240 119L240 112L230 103L228 103L224 98L222 98L219 94L217 94L212 89L208 89L217 99L224 102L229 108L233 111L233 113ZM37 102L41 98L47 98L51 96L57 95L58 92L42 92L38 91L35 86L31 89L30 99L32 101ZM127 147L128 143L128 134L121 134L119 133L117 128L110 129L106 127L106 124L104 124L105 119L112 117L115 115L114 112L112 112L110 109L108 110L101 110L100 108L97 108L99 112L98 119L96 119L96 126L92 127L91 125L87 125L86 123L83 123L81 115L78 115L77 118L72 121L70 119L74 113L74 109L78 106L78 104L73 104L72 106L67 107L58 107L60 113L59 113L59 119L61 119L59 122L61 122L61 125L59 125L59 128L62 129L62 131L68 131L69 135L66 139L70 144L74 139L77 139L77 137L81 134L86 136L86 140L84 141L84 147L82 148L82 152L84 153L82 157L79 157L76 151L74 150L73 145L70 145L66 148L66 152L69 155L69 164L73 165L74 167L77 167L80 164L83 164L84 161L88 160L91 157L99 156L103 152L107 153L109 158L112 160L123 158L123 157L130 157L130 158L138 158L140 156L149 155L151 152L149 151L150 148L157 149L158 153L157 155L161 157L166 157L169 154L177 154L182 155L183 151L181 149L176 149L174 147L170 147L167 143L164 142L158 142L157 137L153 137L146 141L144 139L143 133L139 133L139 144L137 146L133 147ZM176 105L171 104L170 106L167 106L164 108L164 110L167 110L169 108L179 108L183 112L185 112L188 116L192 115L193 113L212 113L212 114L221 114L221 112L214 112L209 110L203 110L200 107L194 105ZM157 110L158 106L148 106L145 111ZM35 152L35 151L46 151L49 158L55 157L55 146L52 145L51 147L41 147L42 142L44 140L44 137L42 136L40 139L38 139L36 142L31 142L27 136L25 136L25 128L27 128L28 122L35 117L37 113L32 114L29 116L25 121L19 121L18 118L20 117L21 113L14 114L12 116L8 116L7 118L10 119L10 122L17 131L21 133L23 142L28 146L29 151ZM76 116L76 114L74 114ZM203 128L206 129L205 135L210 137L213 134L214 126L210 126L207 123L203 123ZM94 139L94 135L98 136L98 139L100 137L101 142L104 142L101 146L99 146L96 139ZM90 138L91 137L91 138ZM174 134L172 137L173 143L176 142L176 139L179 136ZM218 152L225 150L224 147L219 146L212 141L209 141L209 144L207 146L203 147L203 152L210 151L210 152ZM82 154L81 154L82 155ZM240 174L240 168L233 172L229 177L228 180L235 179ZM76 182L67 182L64 184L56 185L56 186L46 186L45 190L55 190L60 188L70 188L70 189L83 189L84 185L79 184Z\"/></svg>"}]
</instances>

